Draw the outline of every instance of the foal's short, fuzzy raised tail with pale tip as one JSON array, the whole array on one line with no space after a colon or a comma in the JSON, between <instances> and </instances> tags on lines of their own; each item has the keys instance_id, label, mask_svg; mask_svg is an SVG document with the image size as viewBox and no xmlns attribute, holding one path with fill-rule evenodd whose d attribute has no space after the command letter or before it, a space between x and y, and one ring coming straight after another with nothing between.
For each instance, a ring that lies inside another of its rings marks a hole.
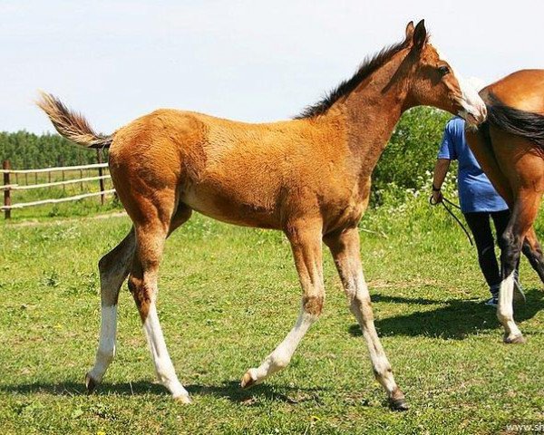
<instances>
[{"instance_id":1,"label":"foal's short, fuzzy raised tail with pale tip","mask_svg":"<svg viewBox=\"0 0 544 435\"><path fill-rule=\"evenodd\" d=\"M87 148L110 148L112 135L107 136L93 131L81 113L71 111L50 93L42 92L41 97L36 104L47 113L61 136Z\"/></svg>"}]
</instances>

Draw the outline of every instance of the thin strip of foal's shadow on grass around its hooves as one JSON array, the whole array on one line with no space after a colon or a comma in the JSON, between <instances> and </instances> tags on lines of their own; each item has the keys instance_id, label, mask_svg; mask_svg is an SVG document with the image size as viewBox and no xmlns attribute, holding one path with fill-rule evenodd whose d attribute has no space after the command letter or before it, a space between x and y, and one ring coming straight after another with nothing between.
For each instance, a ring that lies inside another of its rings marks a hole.
<instances>
[{"instance_id":1,"label":"thin strip of foal's shadow on grass around its hooves","mask_svg":"<svg viewBox=\"0 0 544 435\"><path fill-rule=\"evenodd\" d=\"M267 401L283 401L286 403L298 403L300 401L317 400L319 392L325 391L321 388L296 388L287 385L257 385L249 390L242 390L239 382L223 382L219 385L186 385L185 388L192 396L215 396L226 398L233 402L249 403L254 398L265 399ZM20 385L0 385L0 391L34 394L47 393L53 396L82 396L87 394L83 382L59 382L46 383L34 382ZM93 395L120 395L120 396L140 396L153 394L157 396L170 397L168 391L157 383L152 382L121 382L121 383L102 383Z\"/></svg>"}]
</instances>

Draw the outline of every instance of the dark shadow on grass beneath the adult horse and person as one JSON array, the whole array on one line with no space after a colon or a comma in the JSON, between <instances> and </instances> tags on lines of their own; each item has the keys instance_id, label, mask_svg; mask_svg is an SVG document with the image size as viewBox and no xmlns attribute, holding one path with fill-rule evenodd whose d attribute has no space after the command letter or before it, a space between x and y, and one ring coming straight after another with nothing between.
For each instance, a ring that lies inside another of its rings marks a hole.
<instances>
[{"instance_id":1,"label":"dark shadow on grass beneath the adult horse and person","mask_svg":"<svg viewBox=\"0 0 544 435\"><path fill-rule=\"evenodd\" d=\"M527 303L514 306L514 319L522 323L544 308L544 294L537 289L526 292ZM447 304L431 311L396 315L375 321L381 336L424 335L429 337L462 340L467 335L499 329L496 309L484 305L481 300L453 299L451 301L423 298L407 298L389 295L373 295L374 302L389 304ZM361 335L358 324L349 327L349 333Z\"/></svg>"}]
</instances>

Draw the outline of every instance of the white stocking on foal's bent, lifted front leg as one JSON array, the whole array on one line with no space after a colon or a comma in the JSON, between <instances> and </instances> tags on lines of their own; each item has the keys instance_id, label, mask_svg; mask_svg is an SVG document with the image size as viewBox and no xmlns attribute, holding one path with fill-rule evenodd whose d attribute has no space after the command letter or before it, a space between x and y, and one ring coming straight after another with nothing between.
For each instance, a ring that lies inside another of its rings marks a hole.
<instances>
[{"instance_id":1,"label":"white stocking on foal's bent, lifted front leg","mask_svg":"<svg viewBox=\"0 0 544 435\"><path fill-rule=\"evenodd\" d=\"M316 315L306 313L303 308L300 309L296 324L293 329L287 333L284 341L277 345L274 352L270 353L257 369L248 370L254 383L263 382L271 374L287 367L293 353L296 351L296 347L304 338L309 327L314 324L316 320Z\"/></svg>"}]
</instances>

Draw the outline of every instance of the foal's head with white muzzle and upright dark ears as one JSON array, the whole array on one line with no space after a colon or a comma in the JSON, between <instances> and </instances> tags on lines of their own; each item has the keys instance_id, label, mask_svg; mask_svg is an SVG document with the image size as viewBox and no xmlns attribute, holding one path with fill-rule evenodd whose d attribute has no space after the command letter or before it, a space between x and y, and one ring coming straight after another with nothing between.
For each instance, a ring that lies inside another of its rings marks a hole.
<instances>
[{"instance_id":1,"label":"foal's head with white muzzle and upright dark ears","mask_svg":"<svg viewBox=\"0 0 544 435\"><path fill-rule=\"evenodd\" d=\"M428 105L460 115L470 124L485 121L487 111L478 92L465 82L429 43L424 21L406 26L406 45L412 68L408 93L412 105Z\"/></svg>"}]
</instances>

